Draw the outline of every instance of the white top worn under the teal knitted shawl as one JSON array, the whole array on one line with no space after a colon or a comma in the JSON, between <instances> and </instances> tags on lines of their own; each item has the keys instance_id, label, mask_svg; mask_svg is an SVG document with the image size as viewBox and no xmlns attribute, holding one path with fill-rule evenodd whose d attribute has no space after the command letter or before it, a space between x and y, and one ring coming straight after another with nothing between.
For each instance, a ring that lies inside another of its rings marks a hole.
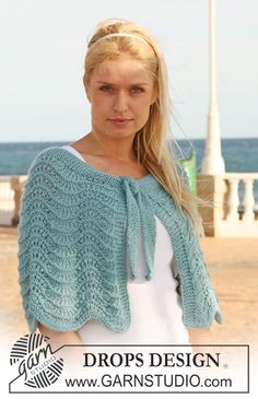
<instances>
[{"instance_id":1,"label":"white top worn under the teal knitted shawl","mask_svg":"<svg viewBox=\"0 0 258 399\"><path fill-rule=\"evenodd\" d=\"M81 161L82 155L70 145L62 145ZM145 258L140 235L138 278L130 280L127 291L130 304L131 324L127 331L115 332L95 319L86 321L78 333L85 344L189 344L188 330L183 324L181 298L176 292L177 273L169 235L159 218L154 272L152 280L145 280ZM128 262L127 262L128 268Z\"/></svg>"}]
</instances>

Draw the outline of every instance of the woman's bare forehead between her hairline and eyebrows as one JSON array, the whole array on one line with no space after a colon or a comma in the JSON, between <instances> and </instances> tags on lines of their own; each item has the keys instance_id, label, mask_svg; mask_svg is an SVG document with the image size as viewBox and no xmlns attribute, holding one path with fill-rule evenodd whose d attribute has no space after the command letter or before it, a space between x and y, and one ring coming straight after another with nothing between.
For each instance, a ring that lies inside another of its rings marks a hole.
<instances>
[{"instance_id":1,"label":"woman's bare forehead between her hairline and eyebrows","mask_svg":"<svg viewBox=\"0 0 258 399\"><path fill-rule=\"evenodd\" d=\"M129 56L119 56L116 60L106 60L93 71L92 81L103 81L113 84L152 83L143 63Z\"/></svg>"}]
</instances>

